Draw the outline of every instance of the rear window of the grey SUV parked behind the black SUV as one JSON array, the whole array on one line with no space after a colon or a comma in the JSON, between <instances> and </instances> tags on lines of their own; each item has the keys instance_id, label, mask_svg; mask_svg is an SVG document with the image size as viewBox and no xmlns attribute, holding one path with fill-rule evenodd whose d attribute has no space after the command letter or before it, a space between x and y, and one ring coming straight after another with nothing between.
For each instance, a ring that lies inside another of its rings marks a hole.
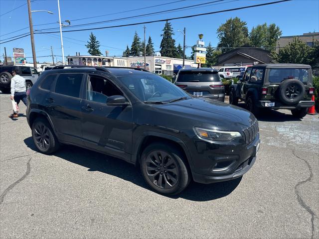
<instances>
[{"instance_id":1,"label":"rear window of the grey SUV parked behind the black SUV","mask_svg":"<svg viewBox=\"0 0 319 239\"><path fill-rule=\"evenodd\" d=\"M181 71L177 82L219 82L217 71Z\"/></svg>"}]
</instances>

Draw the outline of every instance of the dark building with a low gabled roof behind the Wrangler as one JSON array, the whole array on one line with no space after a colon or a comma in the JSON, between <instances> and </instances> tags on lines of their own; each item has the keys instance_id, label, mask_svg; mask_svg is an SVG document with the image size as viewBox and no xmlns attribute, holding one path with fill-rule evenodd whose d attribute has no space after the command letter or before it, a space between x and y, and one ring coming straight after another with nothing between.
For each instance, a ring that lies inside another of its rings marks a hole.
<instances>
[{"instance_id":1,"label":"dark building with a low gabled roof behind the Wrangler","mask_svg":"<svg viewBox=\"0 0 319 239\"><path fill-rule=\"evenodd\" d=\"M219 55L216 66L248 66L271 63L271 60L270 51L244 46Z\"/></svg>"}]
</instances>

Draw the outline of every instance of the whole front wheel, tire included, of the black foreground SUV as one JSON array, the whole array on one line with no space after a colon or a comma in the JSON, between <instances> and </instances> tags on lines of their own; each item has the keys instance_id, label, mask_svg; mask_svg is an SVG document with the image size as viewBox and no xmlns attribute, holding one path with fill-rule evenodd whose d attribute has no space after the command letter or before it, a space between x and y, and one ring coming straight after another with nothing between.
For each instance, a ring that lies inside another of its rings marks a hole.
<instances>
[{"instance_id":1,"label":"whole front wheel, tire included, of the black foreground SUV","mask_svg":"<svg viewBox=\"0 0 319 239\"><path fill-rule=\"evenodd\" d=\"M190 182L191 174L183 153L170 144L159 142L147 146L140 166L147 184L160 194L178 194Z\"/></svg>"}]
</instances>

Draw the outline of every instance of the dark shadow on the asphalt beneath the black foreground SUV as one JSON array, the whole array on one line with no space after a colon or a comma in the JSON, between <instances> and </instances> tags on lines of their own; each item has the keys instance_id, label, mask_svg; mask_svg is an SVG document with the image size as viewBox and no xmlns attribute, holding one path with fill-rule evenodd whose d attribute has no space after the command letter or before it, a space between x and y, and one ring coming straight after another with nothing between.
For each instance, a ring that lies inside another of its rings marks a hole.
<instances>
[{"instance_id":1,"label":"dark shadow on the asphalt beneath the black foreground SUV","mask_svg":"<svg viewBox=\"0 0 319 239\"><path fill-rule=\"evenodd\" d=\"M24 139L24 143L32 150L38 151L33 143L32 137ZM107 173L150 190L150 187L142 177L140 169L121 159L71 145L63 146L59 151L54 153L54 155L86 167L88 171ZM191 201L214 200L230 194L239 185L240 181L241 177L232 181L214 184L191 182L182 193L176 196L170 196L170 198L184 198Z\"/></svg>"}]
</instances>

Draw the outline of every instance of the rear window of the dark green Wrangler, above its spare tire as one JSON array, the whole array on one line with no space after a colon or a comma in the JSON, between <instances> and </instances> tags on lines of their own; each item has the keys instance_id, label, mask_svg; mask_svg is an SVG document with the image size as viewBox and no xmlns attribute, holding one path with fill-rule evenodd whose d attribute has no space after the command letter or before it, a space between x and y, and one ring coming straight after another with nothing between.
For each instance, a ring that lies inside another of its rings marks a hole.
<instances>
[{"instance_id":1,"label":"rear window of the dark green Wrangler, above its spare tire","mask_svg":"<svg viewBox=\"0 0 319 239\"><path fill-rule=\"evenodd\" d=\"M310 69L277 68L269 70L270 83L281 83L286 79L297 79L304 84L311 83Z\"/></svg>"}]
</instances>

